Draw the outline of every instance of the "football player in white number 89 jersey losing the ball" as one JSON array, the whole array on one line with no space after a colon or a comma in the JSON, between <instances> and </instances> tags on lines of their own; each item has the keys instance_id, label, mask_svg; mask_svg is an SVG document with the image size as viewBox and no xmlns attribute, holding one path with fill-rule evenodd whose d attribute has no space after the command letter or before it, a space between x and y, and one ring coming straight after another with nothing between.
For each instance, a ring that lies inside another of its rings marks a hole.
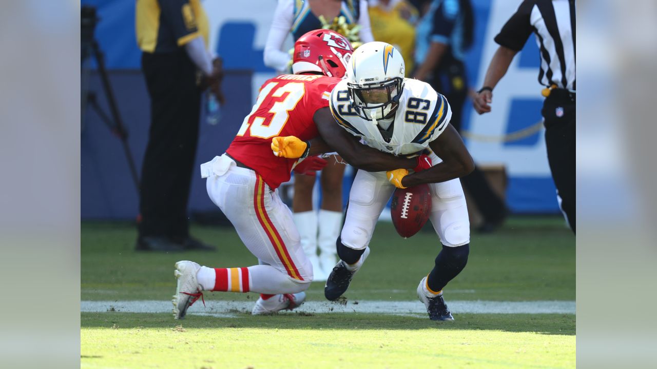
<instances>
[{"instance_id":1,"label":"football player in white number 89 jersey losing the ball","mask_svg":"<svg viewBox=\"0 0 657 369\"><path fill-rule=\"evenodd\" d=\"M459 177L474 169L459 133L449 124L447 99L428 84L404 77L404 60L383 42L356 49L346 78L333 89L331 112L344 129L373 148L397 156L428 152L432 167L370 173L359 170L349 196L346 220L337 240L340 261L325 287L329 300L340 297L369 255L369 242L380 213L395 187L428 183L430 220L442 250L417 288L432 320L453 320L442 297L443 287L468 260L470 223Z\"/></svg>"}]
</instances>

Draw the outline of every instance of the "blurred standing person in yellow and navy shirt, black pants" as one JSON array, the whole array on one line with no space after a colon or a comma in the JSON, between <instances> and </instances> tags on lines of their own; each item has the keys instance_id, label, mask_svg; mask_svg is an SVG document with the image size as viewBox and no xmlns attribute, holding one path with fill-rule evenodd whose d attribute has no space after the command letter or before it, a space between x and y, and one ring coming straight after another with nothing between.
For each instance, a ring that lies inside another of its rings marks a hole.
<instances>
[{"instance_id":1,"label":"blurred standing person in yellow and navy shirt, black pants","mask_svg":"<svg viewBox=\"0 0 657 369\"><path fill-rule=\"evenodd\" d=\"M150 96L137 250L214 250L189 235L187 220L201 93L210 87L223 101L221 62L207 50L208 19L199 0L137 0L136 7Z\"/></svg>"}]
</instances>

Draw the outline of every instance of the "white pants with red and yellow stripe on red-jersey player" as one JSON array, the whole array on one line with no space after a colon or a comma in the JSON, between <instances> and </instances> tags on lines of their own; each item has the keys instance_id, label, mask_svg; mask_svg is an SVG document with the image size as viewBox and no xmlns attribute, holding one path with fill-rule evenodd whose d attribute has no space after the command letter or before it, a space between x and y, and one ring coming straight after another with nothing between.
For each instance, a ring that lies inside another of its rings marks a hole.
<instances>
[{"instance_id":1,"label":"white pants with red and yellow stripe on red-jersey player","mask_svg":"<svg viewBox=\"0 0 657 369\"><path fill-rule=\"evenodd\" d=\"M313 280L292 212L255 171L223 154L202 165L212 202L233 223L244 246L263 264L250 267L250 290L297 293Z\"/></svg>"}]
</instances>

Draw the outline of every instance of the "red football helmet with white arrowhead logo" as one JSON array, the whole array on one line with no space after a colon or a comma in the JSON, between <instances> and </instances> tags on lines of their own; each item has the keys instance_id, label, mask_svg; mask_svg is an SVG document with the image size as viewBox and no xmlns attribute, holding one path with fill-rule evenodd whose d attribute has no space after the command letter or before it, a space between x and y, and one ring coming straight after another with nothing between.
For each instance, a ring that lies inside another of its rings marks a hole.
<instances>
[{"instance_id":1,"label":"red football helmet with white arrowhead logo","mask_svg":"<svg viewBox=\"0 0 657 369\"><path fill-rule=\"evenodd\" d=\"M340 33L330 30L308 32L294 43L292 73L319 72L342 78L347 71L353 47Z\"/></svg>"}]
</instances>

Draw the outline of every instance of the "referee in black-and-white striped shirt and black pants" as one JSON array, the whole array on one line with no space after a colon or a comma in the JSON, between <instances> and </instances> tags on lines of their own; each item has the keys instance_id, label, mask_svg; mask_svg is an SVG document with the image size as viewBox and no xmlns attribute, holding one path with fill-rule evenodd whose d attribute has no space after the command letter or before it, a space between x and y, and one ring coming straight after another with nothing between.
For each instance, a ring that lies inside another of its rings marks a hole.
<instances>
[{"instance_id":1,"label":"referee in black-and-white striped shirt and black pants","mask_svg":"<svg viewBox=\"0 0 657 369\"><path fill-rule=\"evenodd\" d=\"M493 55L484 87L474 99L479 114L491 111L493 89L507 73L513 57L535 33L540 49L538 81L543 89L545 144L556 196L566 221L575 232L575 1L525 0L495 36L500 46Z\"/></svg>"}]
</instances>

